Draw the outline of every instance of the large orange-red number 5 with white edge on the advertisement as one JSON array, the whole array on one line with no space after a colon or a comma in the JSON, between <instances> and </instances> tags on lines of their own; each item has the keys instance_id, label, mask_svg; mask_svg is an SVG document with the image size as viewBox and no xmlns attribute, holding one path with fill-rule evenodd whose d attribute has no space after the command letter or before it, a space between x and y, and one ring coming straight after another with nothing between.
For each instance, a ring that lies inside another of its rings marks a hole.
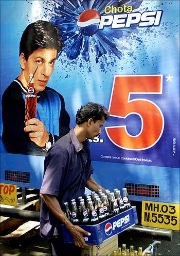
<instances>
[{"instance_id":1,"label":"large orange-red number 5 with white edge on the advertisement","mask_svg":"<svg viewBox=\"0 0 180 256\"><path fill-rule=\"evenodd\" d=\"M125 125L105 127L106 134L118 147L145 150L153 147L164 130L164 116L160 108L146 99L130 100L131 94L161 94L163 75L115 76L110 100L110 116L126 118L137 114L141 130L130 135Z\"/></svg>"}]
</instances>

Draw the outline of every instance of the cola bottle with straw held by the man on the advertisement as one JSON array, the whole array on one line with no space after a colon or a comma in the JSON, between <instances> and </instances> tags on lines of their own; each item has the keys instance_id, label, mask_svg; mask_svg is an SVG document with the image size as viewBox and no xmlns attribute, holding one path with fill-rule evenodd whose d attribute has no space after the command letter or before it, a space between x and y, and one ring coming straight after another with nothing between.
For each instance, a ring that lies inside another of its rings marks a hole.
<instances>
[{"instance_id":1,"label":"cola bottle with straw held by the man on the advertisement","mask_svg":"<svg viewBox=\"0 0 180 256\"><path fill-rule=\"evenodd\" d=\"M34 88L33 74L29 74L29 85L26 92L25 121L36 118L37 94Z\"/></svg>"}]
</instances>

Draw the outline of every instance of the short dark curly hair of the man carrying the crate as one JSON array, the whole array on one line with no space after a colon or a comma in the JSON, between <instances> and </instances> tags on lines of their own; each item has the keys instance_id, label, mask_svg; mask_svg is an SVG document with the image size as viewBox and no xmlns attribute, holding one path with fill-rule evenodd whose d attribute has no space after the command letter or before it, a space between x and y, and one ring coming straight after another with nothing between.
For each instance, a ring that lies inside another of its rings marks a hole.
<instances>
[{"instance_id":1,"label":"short dark curly hair of the man carrying the crate","mask_svg":"<svg viewBox=\"0 0 180 256\"><path fill-rule=\"evenodd\" d=\"M88 102L86 105L81 106L81 108L78 109L76 114L76 123L82 124L89 118L92 118L94 122L102 120L102 117L107 120L109 116L110 114L104 106L98 103Z\"/></svg>"}]
</instances>

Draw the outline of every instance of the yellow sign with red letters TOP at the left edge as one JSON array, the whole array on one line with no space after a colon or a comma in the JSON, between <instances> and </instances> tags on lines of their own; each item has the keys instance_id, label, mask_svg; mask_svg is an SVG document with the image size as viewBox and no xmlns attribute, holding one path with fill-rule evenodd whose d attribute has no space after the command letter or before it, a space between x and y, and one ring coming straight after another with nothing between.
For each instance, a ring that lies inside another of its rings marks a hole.
<instances>
[{"instance_id":1,"label":"yellow sign with red letters TOP at the left edge","mask_svg":"<svg viewBox=\"0 0 180 256\"><path fill-rule=\"evenodd\" d=\"M0 183L0 204L17 205L16 185Z\"/></svg>"}]
</instances>

